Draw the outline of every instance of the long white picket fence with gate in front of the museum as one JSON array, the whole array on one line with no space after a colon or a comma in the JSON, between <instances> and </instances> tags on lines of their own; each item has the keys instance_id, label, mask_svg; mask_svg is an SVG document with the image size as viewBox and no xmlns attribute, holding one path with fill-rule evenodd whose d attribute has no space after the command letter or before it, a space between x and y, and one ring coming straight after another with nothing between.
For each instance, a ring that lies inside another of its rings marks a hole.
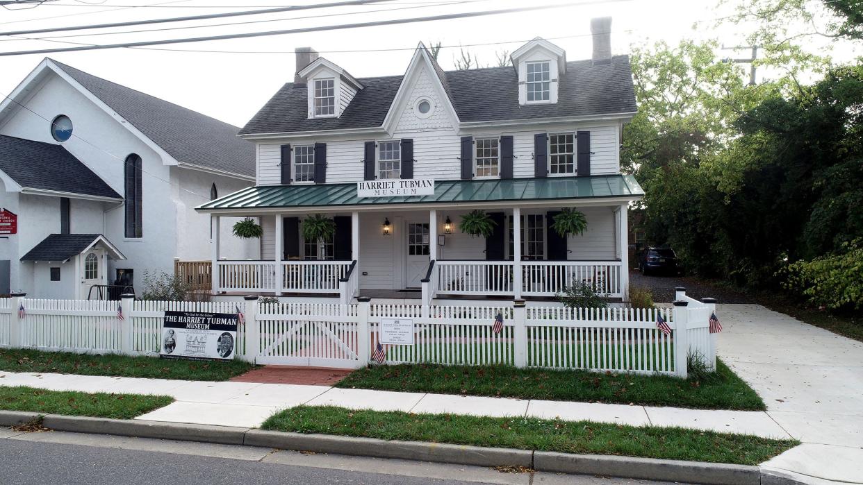
<instances>
[{"instance_id":1,"label":"long white picket fence with gate in front of the museum","mask_svg":"<svg viewBox=\"0 0 863 485\"><path fill-rule=\"evenodd\" d=\"M24 315L18 308L25 308ZM117 308L123 309L123 320ZM413 345L384 345L387 364L514 365L686 376L687 358L715 369L715 302L677 291L672 308L526 307L0 299L0 346L155 356L166 310L234 314L246 324L236 355L256 364L359 368L371 362L381 319L413 321ZM494 333L500 314L503 325ZM671 334L658 329L662 316Z\"/></svg>"}]
</instances>

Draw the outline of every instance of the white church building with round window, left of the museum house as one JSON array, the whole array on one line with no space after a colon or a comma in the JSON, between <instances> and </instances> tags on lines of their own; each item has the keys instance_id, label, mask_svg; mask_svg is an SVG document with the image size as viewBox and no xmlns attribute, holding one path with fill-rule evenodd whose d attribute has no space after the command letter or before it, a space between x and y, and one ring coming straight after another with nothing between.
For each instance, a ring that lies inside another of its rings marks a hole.
<instances>
[{"instance_id":1,"label":"white church building with round window, left of the museum house","mask_svg":"<svg viewBox=\"0 0 863 485\"><path fill-rule=\"evenodd\" d=\"M0 294L140 294L145 271L209 259L211 221L194 208L255 183L238 131L44 59L0 101ZM260 258L230 227L221 237Z\"/></svg>"}]
</instances>

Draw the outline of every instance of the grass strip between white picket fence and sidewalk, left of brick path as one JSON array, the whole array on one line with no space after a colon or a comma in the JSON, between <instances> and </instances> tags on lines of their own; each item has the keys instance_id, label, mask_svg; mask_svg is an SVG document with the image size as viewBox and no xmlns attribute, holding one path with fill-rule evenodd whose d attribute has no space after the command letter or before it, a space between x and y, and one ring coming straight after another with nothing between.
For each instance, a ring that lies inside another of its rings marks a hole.
<instances>
[{"instance_id":1,"label":"grass strip between white picket fence and sidewalk, left of brick path","mask_svg":"<svg viewBox=\"0 0 863 485\"><path fill-rule=\"evenodd\" d=\"M122 355L90 355L28 349L0 350L0 370L56 372L82 376L149 377L186 381L227 381L255 366L240 360L173 360Z\"/></svg>"}]
</instances>

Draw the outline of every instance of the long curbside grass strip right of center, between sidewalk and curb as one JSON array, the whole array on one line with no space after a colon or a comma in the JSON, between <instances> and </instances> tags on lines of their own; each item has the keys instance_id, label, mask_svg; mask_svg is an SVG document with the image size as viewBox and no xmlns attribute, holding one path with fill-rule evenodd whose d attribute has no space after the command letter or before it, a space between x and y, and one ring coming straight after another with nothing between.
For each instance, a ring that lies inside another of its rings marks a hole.
<instances>
[{"instance_id":1,"label":"long curbside grass strip right of center, between sidewalk and curb","mask_svg":"<svg viewBox=\"0 0 863 485\"><path fill-rule=\"evenodd\" d=\"M275 413L264 421L261 429L746 465L762 463L799 444L791 439L683 428L521 417L355 411L343 407L292 407Z\"/></svg>"}]
</instances>

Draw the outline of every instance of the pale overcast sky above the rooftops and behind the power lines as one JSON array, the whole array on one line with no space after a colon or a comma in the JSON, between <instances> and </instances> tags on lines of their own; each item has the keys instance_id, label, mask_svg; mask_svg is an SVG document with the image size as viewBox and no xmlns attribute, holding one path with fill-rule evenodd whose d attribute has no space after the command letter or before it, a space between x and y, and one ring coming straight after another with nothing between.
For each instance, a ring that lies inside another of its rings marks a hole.
<instances>
[{"instance_id":1,"label":"pale overcast sky above the rooftops and behind the power lines","mask_svg":"<svg viewBox=\"0 0 863 485\"><path fill-rule=\"evenodd\" d=\"M0 31L28 28L79 26L93 23L124 22L174 16L192 16L243 9L285 6L300 3L331 3L334 0L57 0L33 9L0 9ZM505 9L525 5L576 3L562 0L394 0L354 7L310 9L299 12L240 16L200 22L173 22L122 29L89 30L30 34L30 37L81 35L52 40L9 40L0 37L0 51L67 47L61 42L107 44L135 40L199 37L227 33L279 30L372 22L376 20L437 16L447 13ZM104 51L51 53L48 57L107 78L167 101L195 109L220 120L243 126L281 84L293 81L296 47L313 47L324 57L341 65L357 78L401 74L419 41L444 46L499 43L469 47L483 65L496 65L495 53L513 51L535 36L550 39L567 53L567 59L590 57L589 20L612 16L612 49L627 53L633 44L653 40L676 43L689 37L716 38L728 46L739 45L749 34L748 27L714 28L714 19L731 13L729 6L715 9L715 1L702 0L599 0L538 12L485 16L478 18L420 22L376 28L354 28L335 32L287 34L242 40L195 42L150 48L122 48ZM97 6L94 6L96 4ZM139 6L128 8L129 6ZM152 5L143 8L141 5ZM127 7L127 8L123 8ZM213 8L222 7L222 8ZM315 18L309 18L314 16ZM54 17L54 18L49 18ZM306 18L301 18L306 17ZM261 20L273 22L260 22ZM695 22L703 21L696 30ZM198 27L236 22L244 25ZM147 29L166 29L140 32ZM182 28L182 29L176 29ZM125 34L104 32L139 31ZM94 35L101 34L101 35ZM812 48L827 44L816 40ZM194 51L235 51L255 53L211 53ZM381 50L391 49L391 50ZM328 52L331 51L331 52ZM333 52L371 51L371 52ZM264 53L259 53L264 52ZM439 62L444 69L454 68L459 49L444 48ZM835 47L835 59L850 60L854 47ZM860 53L856 53L860 55ZM9 94L46 54L0 57L0 93ZM733 52L721 55L734 56ZM740 52L739 57L749 53Z\"/></svg>"}]
</instances>

